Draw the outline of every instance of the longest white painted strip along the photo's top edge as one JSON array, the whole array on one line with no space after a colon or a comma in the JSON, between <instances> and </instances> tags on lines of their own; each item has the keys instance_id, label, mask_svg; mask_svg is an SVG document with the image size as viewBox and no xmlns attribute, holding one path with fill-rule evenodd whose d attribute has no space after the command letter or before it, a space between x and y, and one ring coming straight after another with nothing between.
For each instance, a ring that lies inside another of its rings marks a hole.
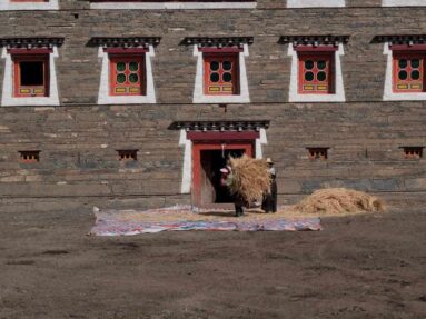
<instances>
[{"instance_id":1,"label":"longest white painted strip along the photo's top edge","mask_svg":"<svg viewBox=\"0 0 426 319\"><path fill-rule=\"evenodd\" d=\"M252 2L92 2L90 9L110 10L187 10L187 9L255 9L257 1Z\"/></svg>"}]
</instances>

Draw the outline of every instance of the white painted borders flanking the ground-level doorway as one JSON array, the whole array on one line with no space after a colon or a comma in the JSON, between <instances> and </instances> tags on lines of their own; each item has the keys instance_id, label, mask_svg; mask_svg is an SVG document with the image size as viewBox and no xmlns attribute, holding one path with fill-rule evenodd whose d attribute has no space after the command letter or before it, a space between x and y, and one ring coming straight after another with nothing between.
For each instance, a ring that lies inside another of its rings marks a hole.
<instances>
[{"instance_id":1,"label":"white painted borders flanking the ground-level doorway","mask_svg":"<svg viewBox=\"0 0 426 319\"><path fill-rule=\"evenodd\" d=\"M256 158L262 159L264 152L261 146L267 144L266 129L259 130L259 138L255 140ZM192 186L192 141L187 138L187 131L180 130L179 146L184 147L184 163L182 163L182 181L180 185L180 193L191 193Z\"/></svg>"}]
</instances>

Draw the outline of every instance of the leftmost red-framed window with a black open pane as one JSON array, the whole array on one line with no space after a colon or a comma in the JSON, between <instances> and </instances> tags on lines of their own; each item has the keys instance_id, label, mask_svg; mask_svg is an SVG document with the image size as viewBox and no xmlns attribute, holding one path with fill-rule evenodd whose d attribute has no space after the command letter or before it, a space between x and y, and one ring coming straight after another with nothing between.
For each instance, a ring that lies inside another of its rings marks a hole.
<instances>
[{"instance_id":1,"label":"leftmost red-framed window with a black open pane","mask_svg":"<svg viewBox=\"0 0 426 319\"><path fill-rule=\"evenodd\" d=\"M49 96L49 54L12 56L14 97Z\"/></svg>"}]
</instances>

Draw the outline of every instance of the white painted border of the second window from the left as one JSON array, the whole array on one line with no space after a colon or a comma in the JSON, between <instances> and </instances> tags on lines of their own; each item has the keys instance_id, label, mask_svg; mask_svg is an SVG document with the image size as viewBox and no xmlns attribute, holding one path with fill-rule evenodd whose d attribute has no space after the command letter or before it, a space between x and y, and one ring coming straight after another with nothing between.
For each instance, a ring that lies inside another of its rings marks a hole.
<instances>
[{"instance_id":1,"label":"white painted border of the second window from the left","mask_svg":"<svg viewBox=\"0 0 426 319\"><path fill-rule=\"evenodd\" d=\"M140 103L155 103L156 92L153 87L153 76L151 58L155 57L153 47L149 46L149 51L145 53L145 70L146 70L146 96L110 96L109 88L109 56L99 47L98 57L102 58L102 70L100 73L98 104L140 104Z\"/></svg>"}]
</instances>

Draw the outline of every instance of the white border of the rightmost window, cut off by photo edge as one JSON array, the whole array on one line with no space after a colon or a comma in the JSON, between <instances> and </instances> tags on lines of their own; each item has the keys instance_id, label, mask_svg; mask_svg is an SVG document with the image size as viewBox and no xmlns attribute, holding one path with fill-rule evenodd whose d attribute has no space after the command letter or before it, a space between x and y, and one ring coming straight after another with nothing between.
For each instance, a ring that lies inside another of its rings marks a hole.
<instances>
[{"instance_id":1,"label":"white border of the rightmost window, cut off by photo edge","mask_svg":"<svg viewBox=\"0 0 426 319\"><path fill-rule=\"evenodd\" d=\"M394 54L389 49L389 43L386 42L383 48L384 56L386 58L386 76L385 76L385 90L383 93L384 101L424 101L426 100L426 92L413 92L413 93L395 93L393 90L393 70L394 70Z\"/></svg>"}]
</instances>

